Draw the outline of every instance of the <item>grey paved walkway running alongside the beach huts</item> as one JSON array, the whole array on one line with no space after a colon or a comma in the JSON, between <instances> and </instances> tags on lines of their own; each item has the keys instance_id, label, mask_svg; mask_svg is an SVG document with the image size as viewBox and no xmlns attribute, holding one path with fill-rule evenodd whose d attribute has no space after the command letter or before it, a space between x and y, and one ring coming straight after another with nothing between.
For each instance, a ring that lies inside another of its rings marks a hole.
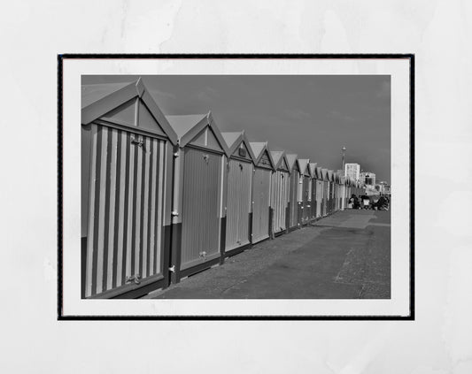
<instances>
[{"instance_id":1,"label":"grey paved walkway running alongside the beach huts","mask_svg":"<svg viewBox=\"0 0 472 374\"><path fill-rule=\"evenodd\" d=\"M390 240L389 211L344 210L148 297L388 299Z\"/></svg>"}]
</instances>

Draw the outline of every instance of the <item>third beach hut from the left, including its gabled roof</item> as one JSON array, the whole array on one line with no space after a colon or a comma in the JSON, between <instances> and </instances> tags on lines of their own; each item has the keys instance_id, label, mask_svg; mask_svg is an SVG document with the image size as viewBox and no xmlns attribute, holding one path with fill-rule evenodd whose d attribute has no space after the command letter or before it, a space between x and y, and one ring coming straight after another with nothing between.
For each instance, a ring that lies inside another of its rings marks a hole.
<instances>
[{"instance_id":1,"label":"third beach hut from the left, including its gabled roof","mask_svg":"<svg viewBox=\"0 0 472 374\"><path fill-rule=\"evenodd\" d=\"M251 245L251 186L256 161L244 131L221 133L228 146L226 166L225 255L236 254Z\"/></svg>"}]
</instances>

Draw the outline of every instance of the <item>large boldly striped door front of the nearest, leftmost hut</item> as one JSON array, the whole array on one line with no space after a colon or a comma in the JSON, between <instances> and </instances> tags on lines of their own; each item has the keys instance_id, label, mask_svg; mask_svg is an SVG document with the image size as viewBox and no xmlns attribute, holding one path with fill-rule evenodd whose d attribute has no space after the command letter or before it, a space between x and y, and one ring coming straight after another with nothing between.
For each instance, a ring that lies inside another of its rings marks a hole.
<instances>
[{"instance_id":1,"label":"large boldly striped door front of the nearest, leftmost hut","mask_svg":"<svg viewBox=\"0 0 472 374\"><path fill-rule=\"evenodd\" d=\"M92 125L85 296L162 276L166 141Z\"/></svg>"}]
</instances>

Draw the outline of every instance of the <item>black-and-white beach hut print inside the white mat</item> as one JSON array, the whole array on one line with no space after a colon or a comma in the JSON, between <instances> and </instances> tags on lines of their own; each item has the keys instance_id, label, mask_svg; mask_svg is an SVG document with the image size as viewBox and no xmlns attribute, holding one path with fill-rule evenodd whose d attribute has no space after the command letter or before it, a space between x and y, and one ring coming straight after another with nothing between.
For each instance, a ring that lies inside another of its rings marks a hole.
<instances>
[{"instance_id":1,"label":"black-and-white beach hut print inside the white mat","mask_svg":"<svg viewBox=\"0 0 472 374\"><path fill-rule=\"evenodd\" d=\"M391 115L386 74L81 75L81 300L391 300Z\"/></svg>"}]
</instances>

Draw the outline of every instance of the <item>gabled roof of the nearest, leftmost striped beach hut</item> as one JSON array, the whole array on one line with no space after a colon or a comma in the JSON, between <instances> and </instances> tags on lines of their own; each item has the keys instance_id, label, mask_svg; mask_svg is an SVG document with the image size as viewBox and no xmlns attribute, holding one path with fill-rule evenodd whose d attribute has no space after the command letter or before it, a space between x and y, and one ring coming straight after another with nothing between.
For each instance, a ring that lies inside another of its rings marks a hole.
<instances>
[{"instance_id":1,"label":"gabled roof of the nearest, leftmost striped beach hut","mask_svg":"<svg viewBox=\"0 0 472 374\"><path fill-rule=\"evenodd\" d=\"M105 114L116 110L120 105L139 98L145 104L146 109L164 131L173 144L177 143L177 135L169 125L166 117L160 111L159 105L154 101L143 80L127 83L104 83L81 86L81 124L88 125ZM135 124L139 126L139 123ZM160 129L159 129L160 131Z\"/></svg>"}]
</instances>

